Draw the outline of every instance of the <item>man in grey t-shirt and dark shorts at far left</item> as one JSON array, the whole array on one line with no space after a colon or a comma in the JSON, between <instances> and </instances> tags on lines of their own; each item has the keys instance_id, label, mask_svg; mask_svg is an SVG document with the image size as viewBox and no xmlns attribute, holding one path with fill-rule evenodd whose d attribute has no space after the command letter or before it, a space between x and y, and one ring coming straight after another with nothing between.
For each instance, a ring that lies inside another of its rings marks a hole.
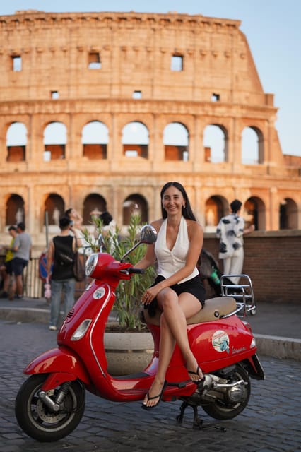
<instances>
[{"instance_id":1,"label":"man in grey t-shirt and dark shorts at far left","mask_svg":"<svg viewBox=\"0 0 301 452\"><path fill-rule=\"evenodd\" d=\"M19 222L17 225L16 239L13 242L13 260L11 261L11 268L13 275L16 278L16 298L23 298L23 271L28 265L31 257L32 241L30 234L25 232L24 222Z\"/></svg>"}]
</instances>

